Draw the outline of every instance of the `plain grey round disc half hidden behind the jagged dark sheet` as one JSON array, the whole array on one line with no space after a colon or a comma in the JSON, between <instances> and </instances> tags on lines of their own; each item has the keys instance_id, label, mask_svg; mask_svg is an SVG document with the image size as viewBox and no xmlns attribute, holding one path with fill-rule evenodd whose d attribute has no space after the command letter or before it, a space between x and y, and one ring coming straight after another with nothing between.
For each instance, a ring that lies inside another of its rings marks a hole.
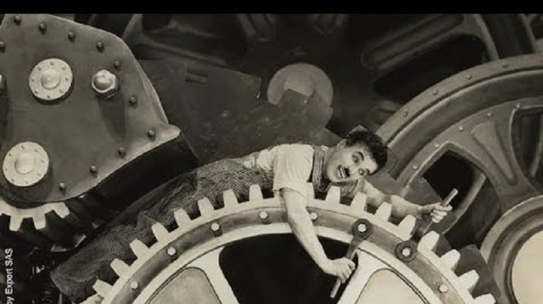
<instances>
[{"instance_id":1,"label":"plain grey round disc half hidden behind the jagged dark sheet","mask_svg":"<svg viewBox=\"0 0 543 304\"><path fill-rule=\"evenodd\" d=\"M317 94L331 105L333 97L332 82L326 73L309 63L294 63L278 70L269 81L268 101L278 104L285 90L295 90L307 97Z\"/></svg>"}]
</instances>

